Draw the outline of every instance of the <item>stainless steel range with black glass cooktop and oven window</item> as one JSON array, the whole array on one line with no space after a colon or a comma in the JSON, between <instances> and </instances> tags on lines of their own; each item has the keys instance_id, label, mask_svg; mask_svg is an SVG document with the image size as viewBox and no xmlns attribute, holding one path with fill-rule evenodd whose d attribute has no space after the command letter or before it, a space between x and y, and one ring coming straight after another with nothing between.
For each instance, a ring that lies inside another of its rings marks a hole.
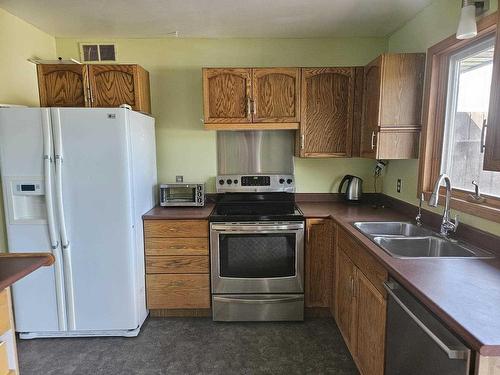
<instances>
[{"instance_id":1,"label":"stainless steel range with black glass cooktop and oven window","mask_svg":"<svg viewBox=\"0 0 500 375\"><path fill-rule=\"evenodd\" d=\"M304 319L304 217L292 175L223 175L210 216L213 319Z\"/></svg>"}]
</instances>

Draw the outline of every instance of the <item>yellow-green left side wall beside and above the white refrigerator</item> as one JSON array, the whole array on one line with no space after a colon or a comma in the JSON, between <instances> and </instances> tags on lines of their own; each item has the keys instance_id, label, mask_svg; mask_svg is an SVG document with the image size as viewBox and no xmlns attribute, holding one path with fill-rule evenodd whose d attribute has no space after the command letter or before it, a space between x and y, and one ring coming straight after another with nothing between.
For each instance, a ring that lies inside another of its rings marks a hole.
<instances>
[{"instance_id":1,"label":"yellow-green left side wall beside and above the white refrigerator","mask_svg":"<svg viewBox=\"0 0 500 375\"><path fill-rule=\"evenodd\" d=\"M33 56L55 58L55 38L0 8L0 103L39 105L35 65L26 61ZM5 251L2 201L0 251Z\"/></svg>"}]
</instances>

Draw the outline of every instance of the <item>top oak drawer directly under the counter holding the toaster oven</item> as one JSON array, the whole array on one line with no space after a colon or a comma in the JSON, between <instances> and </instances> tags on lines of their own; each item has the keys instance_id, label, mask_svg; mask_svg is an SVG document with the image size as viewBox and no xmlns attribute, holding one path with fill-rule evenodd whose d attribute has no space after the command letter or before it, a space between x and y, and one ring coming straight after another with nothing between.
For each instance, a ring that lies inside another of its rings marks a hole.
<instances>
[{"instance_id":1,"label":"top oak drawer directly under the counter holding the toaster oven","mask_svg":"<svg viewBox=\"0 0 500 375\"><path fill-rule=\"evenodd\" d=\"M144 235L148 237L208 237L206 220L146 220Z\"/></svg>"}]
</instances>

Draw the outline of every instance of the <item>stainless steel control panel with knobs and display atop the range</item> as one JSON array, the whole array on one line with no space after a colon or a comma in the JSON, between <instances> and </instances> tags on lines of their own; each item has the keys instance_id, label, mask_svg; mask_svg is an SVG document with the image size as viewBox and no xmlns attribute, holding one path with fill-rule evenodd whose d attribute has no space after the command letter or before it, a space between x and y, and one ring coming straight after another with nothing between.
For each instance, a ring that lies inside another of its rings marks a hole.
<instances>
[{"instance_id":1,"label":"stainless steel control panel with knobs and display atop the range","mask_svg":"<svg viewBox=\"0 0 500 375\"><path fill-rule=\"evenodd\" d=\"M295 178L286 174L248 174L217 176L218 193L237 192L295 192Z\"/></svg>"}]
</instances>

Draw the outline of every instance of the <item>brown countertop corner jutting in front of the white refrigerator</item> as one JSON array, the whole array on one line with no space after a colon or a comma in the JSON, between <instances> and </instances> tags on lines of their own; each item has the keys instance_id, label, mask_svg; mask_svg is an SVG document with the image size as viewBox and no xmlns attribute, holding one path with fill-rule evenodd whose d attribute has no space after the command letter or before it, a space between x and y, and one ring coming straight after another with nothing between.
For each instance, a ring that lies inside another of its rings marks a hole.
<instances>
[{"instance_id":1,"label":"brown countertop corner jutting in front of the white refrigerator","mask_svg":"<svg viewBox=\"0 0 500 375\"><path fill-rule=\"evenodd\" d=\"M0 290L36 271L54 263L51 253L0 254Z\"/></svg>"}]
</instances>

